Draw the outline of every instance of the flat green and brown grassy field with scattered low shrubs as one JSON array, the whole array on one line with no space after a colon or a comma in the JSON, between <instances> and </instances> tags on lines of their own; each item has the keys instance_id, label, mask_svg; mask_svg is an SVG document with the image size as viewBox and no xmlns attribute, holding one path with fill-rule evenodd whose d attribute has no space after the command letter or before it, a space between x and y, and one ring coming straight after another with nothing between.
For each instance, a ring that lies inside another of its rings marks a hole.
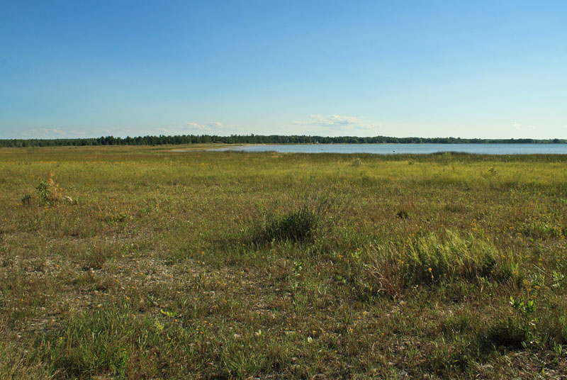
<instances>
[{"instance_id":1,"label":"flat green and brown grassy field with scattered low shrubs","mask_svg":"<svg viewBox=\"0 0 567 380\"><path fill-rule=\"evenodd\" d=\"M0 378L567 376L567 157L172 149L0 150Z\"/></svg>"}]
</instances>

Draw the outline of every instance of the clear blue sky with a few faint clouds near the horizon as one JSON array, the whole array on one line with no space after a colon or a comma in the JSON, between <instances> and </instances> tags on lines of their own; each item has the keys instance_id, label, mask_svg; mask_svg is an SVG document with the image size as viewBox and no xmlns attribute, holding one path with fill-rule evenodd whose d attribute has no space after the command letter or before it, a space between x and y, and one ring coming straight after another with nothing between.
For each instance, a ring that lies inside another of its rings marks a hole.
<instances>
[{"instance_id":1,"label":"clear blue sky with a few faint clouds near the horizon","mask_svg":"<svg viewBox=\"0 0 567 380\"><path fill-rule=\"evenodd\" d=\"M563 0L0 5L0 138L567 138Z\"/></svg>"}]
</instances>

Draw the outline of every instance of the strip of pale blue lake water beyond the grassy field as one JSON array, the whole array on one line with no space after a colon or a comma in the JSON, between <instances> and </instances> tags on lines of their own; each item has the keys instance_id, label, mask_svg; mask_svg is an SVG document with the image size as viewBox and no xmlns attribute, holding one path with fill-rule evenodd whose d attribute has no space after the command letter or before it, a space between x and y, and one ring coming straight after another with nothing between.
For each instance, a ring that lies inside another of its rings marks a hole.
<instances>
[{"instance_id":1,"label":"strip of pale blue lake water beyond the grassy field","mask_svg":"<svg viewBox=\"0 0 567 380\"><path fill-rule=\"evenodd\" d=\"M466 152L478 155L567 155L567 144L298 144L249 145L219 150L286 153L374 153L376 155Z\"/></svg>"}]
</instances>

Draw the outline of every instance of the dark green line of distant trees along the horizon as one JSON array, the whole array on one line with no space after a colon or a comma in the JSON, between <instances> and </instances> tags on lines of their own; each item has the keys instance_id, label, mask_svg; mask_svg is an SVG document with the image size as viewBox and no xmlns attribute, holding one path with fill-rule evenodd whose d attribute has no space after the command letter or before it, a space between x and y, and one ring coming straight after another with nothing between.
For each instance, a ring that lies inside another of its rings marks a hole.
<instances>
[{"instance_id":1,"label":"dark green line of distant trees along the horizon","mask_svg":"<svg viewBox=\"0 0 567 380\"><path fill-rule=\"evenodd\" d=\"M137 138L57 138L57 139L7 139L0 140L0 147L55 147L55 146L87 146L87 145L180 145L180 144L565 144L566 139L535 140L521 139L481 139L481 138L391 138L376 136L358 138L355 136L322 137L305 135L176 135L176 136L138 136Z\"/></svg>"}]
</instances>

